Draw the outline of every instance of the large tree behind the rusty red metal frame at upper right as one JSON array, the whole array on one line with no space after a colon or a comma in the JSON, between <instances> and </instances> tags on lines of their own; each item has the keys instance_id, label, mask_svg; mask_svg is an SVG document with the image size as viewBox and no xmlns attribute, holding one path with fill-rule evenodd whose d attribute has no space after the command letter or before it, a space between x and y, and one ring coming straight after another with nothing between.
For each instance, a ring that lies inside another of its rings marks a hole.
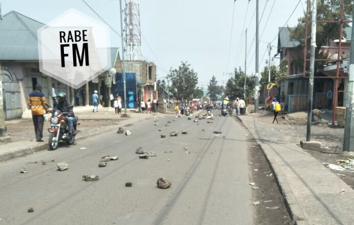
<instances>
[{"instance_id":1,"label":"large tree behind the rusty red metal frame at upper right","mask_svg":"<svg viewBox=\"0 0 354 225\"><path fill-rule=\"evenodd\" d=\"M351 0L344 0L344 19L351 19L352 3ZM310 8L311 9L311 8ZM317 3L317 20L339 20L341 10L341 0L321 0ZM303 46L305 41L307 41L307 46L309 46L309 41L311 40L311 12L308 18L308 36L306 40L305 36L305 15L298 19L298 24L295 29L290 30L290 38L292 40L297 40ZM348 26L343 23L343 28ZM286 28L284 28L286 29ZM343 30L343 35L345 31ZM350 34L347 34L350 35ZM316 58L327 58L324 52L321 52L322 46L325 46L329 40L334 40L339 38L339 24L334 22L318 22L316 29ZM309 51L309 49L307 49ZM308 53L309 55L309 53ZM301 68L303 62L303 56L299 56L298 60L295 62L297 67ZM323 63L323 62L320 62ZM319 62L315 63L315 71L320 65ZM309 63L307 63L307 69Z\"/></svg>"}]
</instances>

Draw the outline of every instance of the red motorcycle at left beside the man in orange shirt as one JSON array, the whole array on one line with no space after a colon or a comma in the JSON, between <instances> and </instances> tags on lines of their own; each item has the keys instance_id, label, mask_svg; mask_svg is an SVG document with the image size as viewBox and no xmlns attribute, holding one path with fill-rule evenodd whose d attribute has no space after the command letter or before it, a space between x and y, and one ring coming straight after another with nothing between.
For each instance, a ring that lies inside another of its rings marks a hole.
<instances>
[{"instance_id":1,"label":"red motorcycle at left beside the man in orange shirt","mask_svg":"<svg viewBox=\"0 0 354 225\"><path fill-rule=\"evenodd\" d=\"M59 141L65 141L68 145L72 145L75 142L75 136L78 133L76 130L78 117L74 117L73 121L73 131L71 138L69 136L68 130L68 113L56 110L52 118L50 118L51 128L48 128L49 134L49 148L55 150L58 148Z\"/></svg>"}]
</instances>

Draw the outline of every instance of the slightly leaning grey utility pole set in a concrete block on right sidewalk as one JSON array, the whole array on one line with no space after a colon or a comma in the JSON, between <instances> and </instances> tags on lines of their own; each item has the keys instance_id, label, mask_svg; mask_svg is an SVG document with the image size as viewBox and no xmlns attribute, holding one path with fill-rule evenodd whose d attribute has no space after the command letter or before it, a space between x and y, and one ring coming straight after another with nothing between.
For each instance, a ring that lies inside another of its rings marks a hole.
<instances>
[{"instance_id":1,"label":"slightly leaning grey utility pole set in a concrete block on right sidewalk","mask_svg":"<svg viewBox=\"0 0 354 225\"><path fill-rule=\"evenodd\" d=\"M306 141L308 142L311 141L311 119L312 119L312 101L313 101L313 93L314 93L316 27L317 27L316 19L317 19L317 0L313 0L312 1L312 21L311 21L310 75L308 78L308 106L307 106L307 129L306 129Z\"/></svg>"}]
</instances>

